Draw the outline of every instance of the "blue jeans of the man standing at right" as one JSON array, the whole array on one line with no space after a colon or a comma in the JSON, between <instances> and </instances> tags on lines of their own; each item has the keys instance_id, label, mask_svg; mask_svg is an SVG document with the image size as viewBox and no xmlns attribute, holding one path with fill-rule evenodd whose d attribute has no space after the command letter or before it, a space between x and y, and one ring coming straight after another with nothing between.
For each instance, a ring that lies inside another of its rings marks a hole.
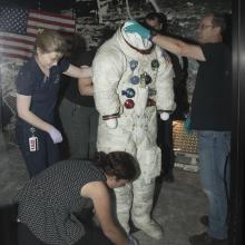
<instances>
[{"instance_id":1,"label":"blue jeans of the man standing at right","mask_svg":"<svg viewBox=\"0 0 245 245\"><path fill-rule=\"evenodd\" d=\"M208 235L227 238L231 133L198 130L200 182L209 204Z\"/></svg>"}]
</instances>

